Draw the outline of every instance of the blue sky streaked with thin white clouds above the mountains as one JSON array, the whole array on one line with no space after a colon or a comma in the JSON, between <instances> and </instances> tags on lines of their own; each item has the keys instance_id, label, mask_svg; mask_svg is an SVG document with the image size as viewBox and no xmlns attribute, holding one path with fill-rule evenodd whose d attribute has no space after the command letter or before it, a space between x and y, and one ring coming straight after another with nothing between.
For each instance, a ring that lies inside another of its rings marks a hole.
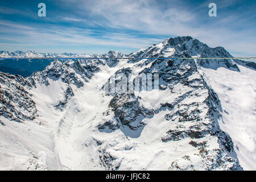
<instances>
[{"instance_id":1,"label":"blue sky streaked with thin white clouds above the mountains","mask_svg":"<svg viewBox=\"0 0 256 182\"><path fill-rule=\"evenodd\" d=\"M46 17L38 4L46 4ZM209 3L217 17L208 15ZM0 50L131 53L192 36L233 56L256 56L256 1L0 1Z\"/></svg>"}]
</instances>

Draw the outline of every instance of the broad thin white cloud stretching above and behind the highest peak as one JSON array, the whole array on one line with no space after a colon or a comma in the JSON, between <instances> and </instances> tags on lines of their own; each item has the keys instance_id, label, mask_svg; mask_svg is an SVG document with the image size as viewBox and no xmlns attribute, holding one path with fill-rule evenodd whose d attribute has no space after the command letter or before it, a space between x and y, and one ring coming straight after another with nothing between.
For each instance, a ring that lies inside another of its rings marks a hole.
<instances>
[{"instance_id":1,"label":"broad thin white cloud stretching above and behind the highest peak","mask_svg":"<svg viewBox=\"0 0 256 182\"><path fill-rule=\"evenodd\" d=\"M229 0L217 3L217 7L224 9L236 2ZM108 27L129 28L151 35L191 35L212 47L222 46L230 52L255 55L255 31L240 28L242 23L250 22L248 20L250 17L241 19L238 15L227 13L216 21L207 19L208 14L200 17L197 11L192 11L189 9L191 7L185 4L177 6L175 1L168 1L168 3L170 6L166 9L161 9L158 1L93 0L80 1L79 5L81 10L90 11L92 16L102 16ZM207 11L206 5L207 3L203 3L200 9ZM205 19L208 22L201 22ZM101 23L104 24L104 22ZM235 30L236 27L240 30Z\"/></svg>"}]
</instances>

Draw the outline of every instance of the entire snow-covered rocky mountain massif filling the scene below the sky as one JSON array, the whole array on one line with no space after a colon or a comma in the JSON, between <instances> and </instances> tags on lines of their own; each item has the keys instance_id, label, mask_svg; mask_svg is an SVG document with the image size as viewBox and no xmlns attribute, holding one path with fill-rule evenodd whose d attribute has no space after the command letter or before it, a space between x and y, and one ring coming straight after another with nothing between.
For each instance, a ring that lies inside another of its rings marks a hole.
<instances>
[{"instance_id":1,"label":"entire snow-covered rocky mountain massif filling the scene below the sky","mask_svg":"<svg viewBox=\"0 0 256 182\"><path fill-rule=\"evenodd\" d=\"M122 56L1 73L0 169L255 170L254 69L190 36Z\"/></svg>"}]
</instances>

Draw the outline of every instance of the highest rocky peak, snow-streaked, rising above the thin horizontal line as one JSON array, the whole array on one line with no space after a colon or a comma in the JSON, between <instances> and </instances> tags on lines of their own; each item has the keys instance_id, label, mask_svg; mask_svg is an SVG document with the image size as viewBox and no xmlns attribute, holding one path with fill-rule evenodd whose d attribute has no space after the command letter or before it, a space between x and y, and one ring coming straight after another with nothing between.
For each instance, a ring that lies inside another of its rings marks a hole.
<instances>
[{"instance_id":1,"label":"highest rocky peak, snow-streaked, rising above the thin horizontal line","mask_svg":"<svg viewBox=\"0 0 256 182\"><path fill-rule=\"evenodd\" d=\"M223 47L208 47L207 44L193 39L191 36L177 36L169 38L160 44L154 44L146 49L131 53L131 57L230 57L230 59L199 59L197 64L205 68L217 69L224 67L234 71L240 71L232 60L232 55ZM138 60L131 60L138 61ZM148 61L147 61L148 63Z\"/></svg>"}]
</instances>

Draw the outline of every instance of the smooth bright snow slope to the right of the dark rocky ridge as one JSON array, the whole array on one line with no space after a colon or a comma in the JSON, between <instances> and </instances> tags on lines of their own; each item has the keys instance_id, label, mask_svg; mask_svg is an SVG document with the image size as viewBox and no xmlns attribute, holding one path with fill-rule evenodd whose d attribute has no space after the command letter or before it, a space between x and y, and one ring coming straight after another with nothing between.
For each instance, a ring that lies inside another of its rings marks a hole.
<instances>
[{"instance_id":1,"label":"smooth bright snow slope to the right of the dark rocky ridge","mask_svg":"<svg viewBox=\"0 0 256 182\"><path fill-rule=\"evenodd\" d=\"M256 73L242 66L239 69L241 72L201 68L200 72L221 100L220 126L232 138L241 166L256 170Z\"/></svg>"}]
</instances>

